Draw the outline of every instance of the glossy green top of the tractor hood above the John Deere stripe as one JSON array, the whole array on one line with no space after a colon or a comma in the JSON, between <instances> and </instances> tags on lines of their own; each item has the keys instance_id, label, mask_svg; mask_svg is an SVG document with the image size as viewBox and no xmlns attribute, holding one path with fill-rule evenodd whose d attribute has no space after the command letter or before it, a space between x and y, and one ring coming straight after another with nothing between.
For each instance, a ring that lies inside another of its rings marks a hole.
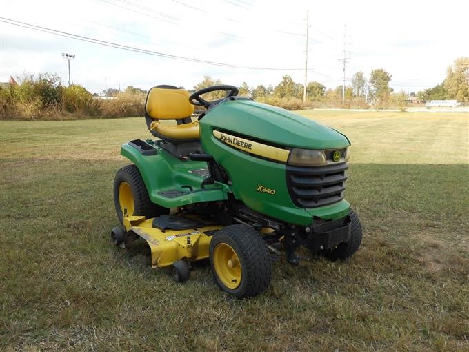
<instances>
[{"instance_id":1,"label":"glossy green top of the tractor hood above the John Deere stripe","mask_svg":"<svg viewBox=\"0 0 469 352\"><path fill-rule=\"evenodd\" d=\"M201 125L246 135L250 139L306 149L342 148L345 135L290 111L251 100L227 100L210 109Z\"/></svg>"}]
</instances>

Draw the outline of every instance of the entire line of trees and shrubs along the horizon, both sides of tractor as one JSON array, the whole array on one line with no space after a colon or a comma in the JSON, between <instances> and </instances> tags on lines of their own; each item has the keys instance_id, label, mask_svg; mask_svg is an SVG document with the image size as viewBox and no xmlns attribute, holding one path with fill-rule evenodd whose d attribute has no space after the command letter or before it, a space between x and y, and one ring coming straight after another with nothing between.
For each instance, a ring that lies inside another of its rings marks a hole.
<instances>
[{"instance_id":1,"label":"entire line of trees and shrubs along the horizon, both sides of tractor","mask_svg":"<svg viewBox=\"0 0 469 352\"><path fill-rule=\"evenodd\" d=\"M350 84L328 88L318 81L306 86L303 101L303 84L284 75L276 86L259 84L250 87L243 82L239 95L256 101L280 106L288 110L303 108L391 108L405 109L408 96L390 88L392 75L382 68L370 72L356 72ZM219 79L203 77L190 92L222 84ZM127 86L123 91L109 88L101 96L114 99L97 99L83 86L62 86L61 77L55 74L33 75L19 79L19 84L0 86L0 119L77 119L88 117L130 117L143 115L146 91ZM219 99L222 92L208 93L206 99ZM446 78L435 87L410 93L420 101L455 99L469 105L469 57L460 57L448 67Z\"/></svg>"}]
</instances>

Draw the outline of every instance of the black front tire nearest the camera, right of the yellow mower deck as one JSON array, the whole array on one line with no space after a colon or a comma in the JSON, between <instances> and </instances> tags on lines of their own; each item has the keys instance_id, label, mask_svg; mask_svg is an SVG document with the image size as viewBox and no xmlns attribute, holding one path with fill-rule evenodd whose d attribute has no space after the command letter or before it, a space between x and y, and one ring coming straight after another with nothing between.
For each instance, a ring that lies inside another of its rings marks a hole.
<instances>
[{"instance_id":1,"label":"black front tire nearest the camera, right of the yellow mower deck","mask_svg":"<svg viewBox=\"0 0 469 352\"><path fill-rule=\"evenodd\" d=\"M239 260L239 263L235 265L239 265L241 271L240 282L232 280L234 285L237 285L232 288L223 283L220 278L223 274L217 272L217 267L219 268L220 263L223 262L217 260L219 252L221 248L228 247ZM247 225L231 225L222 228L212 237L209 253L214 279L223 291L239 298L246 298L259 295L267 289L272 275L270 254L266 243L254 228Z\"/></svg>"}]
</instances>

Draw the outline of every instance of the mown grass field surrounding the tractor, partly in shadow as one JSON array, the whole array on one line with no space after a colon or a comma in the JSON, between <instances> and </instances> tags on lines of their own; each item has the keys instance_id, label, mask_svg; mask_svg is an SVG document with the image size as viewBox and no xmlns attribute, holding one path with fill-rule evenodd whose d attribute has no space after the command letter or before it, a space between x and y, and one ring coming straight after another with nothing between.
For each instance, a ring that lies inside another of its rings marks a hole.
<instances>
[{"instance_id":1,"label":"mown grass field surrounding the tractor, partly in shadow","mask_svg":"<svg viewBox=\"0 0 469 352\"><path fill-rule=\"evenodd\" d=\"M142 118L0 121L0 350L468 351L469 115L308 110L352 141L347 262L274 264L236 300L110 243L121 143Z\"/></svg>"}]
</instances>

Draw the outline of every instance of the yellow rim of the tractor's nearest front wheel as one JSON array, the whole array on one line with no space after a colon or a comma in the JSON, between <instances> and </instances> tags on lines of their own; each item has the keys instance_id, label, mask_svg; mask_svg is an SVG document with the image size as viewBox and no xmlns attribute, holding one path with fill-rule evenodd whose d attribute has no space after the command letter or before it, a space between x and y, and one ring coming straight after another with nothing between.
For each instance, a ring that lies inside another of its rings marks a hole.
<instances>
[{"instance_id":1,"label":"yellow rim of the tractor's nearest front wheel","mask_svg":"<svg viewBox=\"0 0 469 352\"><path fill-rule=\"evenodd\" d=\"M218 278L228 289L236 289L241 284L241 262L229 244L219 243L215 246L213 264Z\"/></svg>"}]
</instances>

